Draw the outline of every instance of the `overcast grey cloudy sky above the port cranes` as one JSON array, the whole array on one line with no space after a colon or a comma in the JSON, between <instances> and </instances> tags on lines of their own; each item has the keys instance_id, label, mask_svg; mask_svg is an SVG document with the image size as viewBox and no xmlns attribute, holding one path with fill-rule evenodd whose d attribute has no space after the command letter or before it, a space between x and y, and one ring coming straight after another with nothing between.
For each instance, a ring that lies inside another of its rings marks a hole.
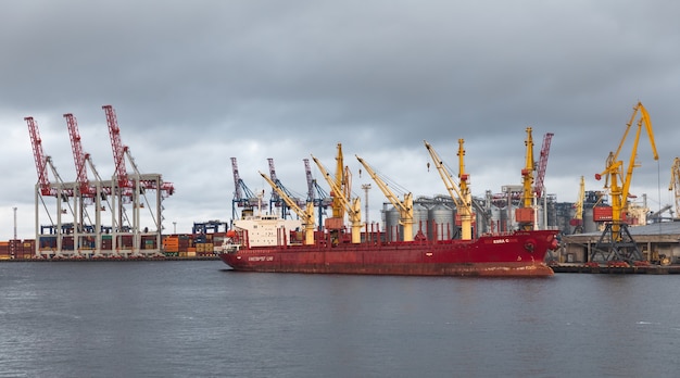
<instances>
[{"instance_id":1,"label":"overcast grey cloudy sky above the port cranes","mask_svg":"<svg viewBox=\"0 0 680 378\"><path fill-rule=\"evenodd\" d=\"M37 173L24 117L64 180L75 167L64 113L100 175L113 174L101 106L142 173L176 193L176 222L231 217L230 158L253 190L277 177L304 194L303 159L335 171L337 143L353 190L372 182L355 154L414 196L445 193L427 140L457 173L457 140L475 196L519 185L526 128L538 160L554 133L545 187L558 202L587 190L616 150L632 108L648 111L658 162L640 137L631 192L672 203L680 154L680 4L670 1L3 1L0 5L0 240L35 237ZM628 164L634 134L621 159ZM328 189L318 169L315 177ZM92 177L92 176L90 176ZM395 193L401 196L403 190ZM386 201L374 184L370 220ZM47 219L41 223L47 223Z\"/></svg>"}]
</instances>

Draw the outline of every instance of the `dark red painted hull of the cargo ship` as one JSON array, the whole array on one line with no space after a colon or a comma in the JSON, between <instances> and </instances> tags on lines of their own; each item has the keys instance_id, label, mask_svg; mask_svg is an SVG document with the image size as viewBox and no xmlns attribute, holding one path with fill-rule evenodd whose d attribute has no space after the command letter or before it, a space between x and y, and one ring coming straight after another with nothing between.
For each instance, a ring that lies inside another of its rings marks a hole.
<instances>
[{"instance_id":1,"label":"dark red painted hull of the cargo ship","mask_svg":"<svg viewBox=\"0 0 680 378\"><path fill-rule=\"evenodd\" d=\"M219 257L235 270L408 276L552 276L544 263L556 230L473 241L413 241L240 249Z\"/></svg>"}]
</instances>

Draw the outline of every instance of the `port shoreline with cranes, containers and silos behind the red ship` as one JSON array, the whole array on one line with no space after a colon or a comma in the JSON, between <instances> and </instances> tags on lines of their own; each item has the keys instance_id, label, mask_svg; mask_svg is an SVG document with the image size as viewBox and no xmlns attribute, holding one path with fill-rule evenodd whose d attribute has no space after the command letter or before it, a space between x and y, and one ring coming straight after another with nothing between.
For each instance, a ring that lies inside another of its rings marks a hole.
<instances>
[{"instance_id":1,"label":"port shoreline with cranes, containers and silos behind the red ship","mask_svg":"<svg viewBox=\"0 0 680 378\"><path fill-rule=\"evenodd\" d=\"M104 105L102 110L115 163L115 172L108 180L101 178L90 155L83 150L73 114L64 114L76 168L76 181L73 182L61 179L51 158L42 151L37 121L30 116L24 118L38 174L35 186L36 236L26 240L17 240L15 237L13 240L0 241L0 261L216 259L230 223L197 222L191 232L163 232L164 201L174 193L174 185L164 181L161 174L140 172L130 149L122 143L115 111L111 105ZM640 118L637 121L638 115ZM625 172L626 165L619 152L628 131L634 127L638 133L633 140L631 161L627 163L628 171ZM658 212L651 212L644 197L642 203L628 200L635 166L632 161L643 127L652 144L653 158L658 160L650 116L644 106L638 103L633 106L619 149L609 154L605 169L596 175L605 179L604 189L585 191L581 177L576 203L557 202L554 194L545 192L543 181L553 134L544 135L538 161L534 161L532 129L527 127L526 164L518 168L520 184L504 185L498 192L487 190L483 197L469 196L467 203L473 209L471 237L516 229L558 229L561 245L546 256L546 262L556 273L676 273L680 265L680 223L673 214L680 214L680 160L676 158L672 163L668 188L676 194L675 206L666 205ZM461 139L458 173L442 174L449 196L411 198L412 227L405 229L405 201L387 192L389 201L382 203L381 222L374 222L370 228L381 227L382 238L395 240L404 232L416 235L427 229L424 225L436 222L446 225L448 231L427 237L461 238L464 229L461 227L462 204L465 198L457 190L466 185L469 176L464 167L463 143ZM338 150L341 156L340 143ZM333 207L335 197L312 177L308 160L302 161L307 177L307 198L295 198L294 201L301 207L313 206L318 225L323 227L320 225L327 219L333 218L329 212ZM272 191L268 206L282 217L293 217L294 212L291 212L291 206L284 199L292 194L276 178L273 159L269 158L268 163L269 176L282 190ZM264 201L240 178L236 158L231 158L231 165L234 220L243 214L252 214L253 209ZM337 167L337 172L343 169L348 167ZM374 179L379 185L379 178ZM370 185L362 186L366 191L366 201L369 188ZM347 193L351 196L351 188L347 188ZM361 202L358 197L354 200ZM146 212L146 215L142 216L141 212ZM142 224L142 218L148 224ZM368 234L368 227L365 225L363 234Z\"/></svg>"}]
</instances>

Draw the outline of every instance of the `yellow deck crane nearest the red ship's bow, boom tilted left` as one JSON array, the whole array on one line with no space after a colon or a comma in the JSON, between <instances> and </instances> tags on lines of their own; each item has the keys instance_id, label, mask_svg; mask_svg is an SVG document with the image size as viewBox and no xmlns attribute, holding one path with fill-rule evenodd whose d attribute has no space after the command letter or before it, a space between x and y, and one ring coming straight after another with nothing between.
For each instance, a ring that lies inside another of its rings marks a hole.
<instances>
[{"instance_id":1,"label":"yellow deck crane nearest the red ship's bow, boom tilted left","mask_svg":"<svg viewBox=\"0 0 680 378\"><path fill-rule=\"evenodd\" d=\"M446 186L446 190L451 196L451 199L456 205L456 211L461 217L461 239L463 240L471 240L473 239L473 196L470 193L467 180L469 179L469 175L465 173L465 164L464 156L465 150L463 149L463 139L458 139L458 179L461 180L461 185L458 186L453 176L444 166L444 162L439 158L439 154L430 143L425 142L425 148L430 153L432 158L432 162L437 166L437 171L441 176L444 185Z\"/></svg>"}]
</instances>

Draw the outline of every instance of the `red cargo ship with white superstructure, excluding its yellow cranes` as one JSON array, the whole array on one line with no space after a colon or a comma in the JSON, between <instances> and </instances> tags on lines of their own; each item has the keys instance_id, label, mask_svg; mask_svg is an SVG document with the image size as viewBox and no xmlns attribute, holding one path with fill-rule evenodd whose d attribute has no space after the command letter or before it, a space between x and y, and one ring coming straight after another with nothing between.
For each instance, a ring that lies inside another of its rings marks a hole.
<instances>
[{"instance_id":1,"label":"red cargo ship with white superstructure, excluding its yellow cranes","mask_svg":"<svg viewBox=\"0 0 680 378\"><path fill-rule=\"evenodd\" d=\"M418 232L414 241L388 242L377 231L352 243L317 231L313 243L303 244L290 231L299 220L256 216L235 226L218 253L235 270L407 276L552 276L544 257L557 248L558 232L519 230L475 240L428 240Z\"/></svg>"}]
</instances>

